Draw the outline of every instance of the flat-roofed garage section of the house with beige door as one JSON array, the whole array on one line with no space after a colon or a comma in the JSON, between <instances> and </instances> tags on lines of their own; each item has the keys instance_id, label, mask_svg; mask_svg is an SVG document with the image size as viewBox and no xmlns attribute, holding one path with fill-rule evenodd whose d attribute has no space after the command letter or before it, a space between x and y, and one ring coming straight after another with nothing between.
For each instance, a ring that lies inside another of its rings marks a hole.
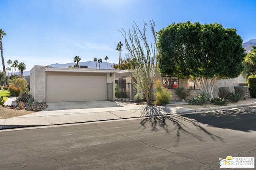
<instances>
[{"instance_id":1,"label":"flat-roofed garage section of the house with beige door","mask_svg":"<svg viewBox=\"0 0 256 170\"><path fill-rule=\"evenodd\" d=\"M114 101L117 72L34 66L30 71L30 92L35 102Z\"/></svg>"}]
</instances>

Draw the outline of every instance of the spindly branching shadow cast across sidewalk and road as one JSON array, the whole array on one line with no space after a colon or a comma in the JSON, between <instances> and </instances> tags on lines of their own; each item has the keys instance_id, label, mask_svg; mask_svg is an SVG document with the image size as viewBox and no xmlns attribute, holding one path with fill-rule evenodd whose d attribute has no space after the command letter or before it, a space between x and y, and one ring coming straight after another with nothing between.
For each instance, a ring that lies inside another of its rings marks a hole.
<instances>
[{"instance_id":1,"label":"spindly branching shadow cast across sidewalk and road","mask_svg":"<svg viewBox=\"0 0 256 170\"><path fill-rule=\"evenodd\" d=\"M166 115L170 113L167 113L161 107L146 106L144 109L141 109L141 114L142 116L146 117L140 121L140 125L142 125L144 129L146 129L146 125L149 124L152 128L152 131L160 131L160 129L164 129L166 133L176 132L175 145L178 145L181 133L195 137L200 141L204 141L201 136L189 131L190 125L195 126L197 129L200 129L200 131L202 131L204 134L209 135L212 140L219 140L224 143L224 139L210 133L195 120L188 117L183 117L178 114Z\"/></svg>"}]
</instances>

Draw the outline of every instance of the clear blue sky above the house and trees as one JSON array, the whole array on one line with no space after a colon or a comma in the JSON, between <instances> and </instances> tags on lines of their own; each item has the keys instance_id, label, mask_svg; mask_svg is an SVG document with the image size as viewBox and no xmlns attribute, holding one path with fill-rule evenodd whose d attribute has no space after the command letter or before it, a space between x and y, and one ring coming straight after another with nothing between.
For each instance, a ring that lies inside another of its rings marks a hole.
<instances>
[{"instance_id":1,"label":"clear blue sky above the house and trees","mask_svg":"<svg viewBox=\"0 0 256 170\"><path fill-rule=\"evenodd\" d=\"M116 45L124 43L118 30L151 19L156 31L174 22L218 22L246 42L256 39L255 9L256 0L0 0L4 60L24 62L25 71L71 63L76 55L118 63Z\"/></svg>"}]
</instances>

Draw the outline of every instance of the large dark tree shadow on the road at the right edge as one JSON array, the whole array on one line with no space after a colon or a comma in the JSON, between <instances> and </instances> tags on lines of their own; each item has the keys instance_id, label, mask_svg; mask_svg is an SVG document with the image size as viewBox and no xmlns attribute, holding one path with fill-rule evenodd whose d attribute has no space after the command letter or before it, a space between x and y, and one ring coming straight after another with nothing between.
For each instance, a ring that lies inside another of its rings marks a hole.
<instances>
[{"instance_id":1,"label":"large dark tree shadow on the road at the right edge","mask_svg":"<svg viewBox=\"0 0 256 170\"><path fill-rule=\"evenodd\" d=\"M182 115L198 123L223 129L239 131L256 131L256 107L245 107L227 110Z\"/></svg>"}]
</instances>

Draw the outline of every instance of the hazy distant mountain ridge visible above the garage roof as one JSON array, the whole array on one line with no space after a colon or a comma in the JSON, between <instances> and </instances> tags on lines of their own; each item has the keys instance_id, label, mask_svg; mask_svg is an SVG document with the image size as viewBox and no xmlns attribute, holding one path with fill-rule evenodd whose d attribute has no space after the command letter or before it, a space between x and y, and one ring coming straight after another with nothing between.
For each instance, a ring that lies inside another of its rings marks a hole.
<instances>
[{"instance_id":1,"label":"hazy distant mountain ridge visible above the garage roof","mask_svg":"<svg viewBox=\"0 0 256 170\"><path fill-rule=\"evenodd\" d=\"M66 64L50 64L49 66L51 67L58 67L58 68L68 68L68 66L74 66L75 63L66 63ZM79 62L80 66L88 66L88 68L96 68L96 62L94 61L86 61L86 62ZM111 65L113 65L112 63L108 63L108 69L114 69L111 67ZM97 67L99 68L99 63L97 62ZM107 62L102 61L102 63L100 63L100 69L107 69Z\"/></svg>"}]
</instances>

